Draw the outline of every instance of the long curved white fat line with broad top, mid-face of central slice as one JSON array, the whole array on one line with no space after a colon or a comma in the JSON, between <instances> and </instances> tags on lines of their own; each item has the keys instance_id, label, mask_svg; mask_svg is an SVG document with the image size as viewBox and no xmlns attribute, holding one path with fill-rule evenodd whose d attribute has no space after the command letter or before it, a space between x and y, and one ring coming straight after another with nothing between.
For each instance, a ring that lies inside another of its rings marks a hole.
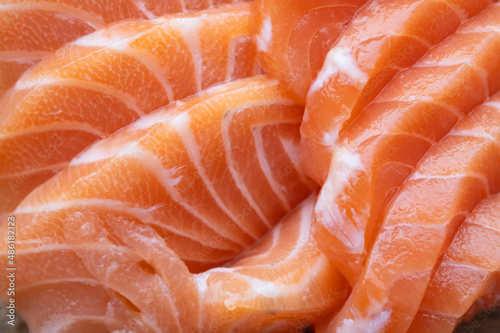
<instances>
[{"instance_id":1,"label":"long curved white fat line with broad top, mid-face of central slice","mask_svg":"<svg viewBox=\"0 0 500 333\"><path fill-rule=\"evenodd\" d=\"M217 205L220 207L220 209L231 219L231 221L239 227L245 234L251 236L254 240L257 240L259 238L259 235L254 235L252 234L251 230L248 230L248 228L238 222L238 219L236 218L236 215L225 205L225 203L222 201L218 193L215 191L215 188L213 187L213 184L210 182L208 179L208 176L204 172L204 168L202 166L202 163L200 161L200 156L199 156L199 151L201 150L198 144L196 143L196 140L194 139L194 136L192 135L192 130L190 129L190 119L189 119L189 114L187 112L183 112L173 118L171 121L168 122L168 125L170 125L172 128L174 128L177 133L179 134L181 140L184 143L184 147L187 151L187 155L189 156L189 159L192 161L194 164L194 167L196 171L198 172L199 176L201 177L201 181L205 185L206 189L210 193L211 197L213 200L217 203Z\"/></svg>"}]
</instances>

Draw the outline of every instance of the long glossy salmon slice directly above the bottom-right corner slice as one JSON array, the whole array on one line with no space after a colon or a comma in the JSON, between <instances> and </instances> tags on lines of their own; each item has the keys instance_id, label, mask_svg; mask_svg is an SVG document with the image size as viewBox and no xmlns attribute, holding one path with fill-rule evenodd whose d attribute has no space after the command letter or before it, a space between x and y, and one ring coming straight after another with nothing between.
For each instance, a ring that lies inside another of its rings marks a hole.
<instances>
[{"instance_id":1,"label":"long glossy salmon slice directly above the bottom-right corner slice","mask_svg":"<svg viewBox=\"0 0 500 333\"><path fill-rule=\"evenodd\" d=\"M332 324L333 332L408 330L458 227L481 200L500 191L499 129L500 93L462 118L428 151L388 206L361 277ZM488 246L483 238L468 233L466 237L473 239L470 246L477 251ZM460 243L457 248L465 251L466 246ZM465 280L459 275L448 278L475 285L472 275Z\"/></svg>"}]
</instances>

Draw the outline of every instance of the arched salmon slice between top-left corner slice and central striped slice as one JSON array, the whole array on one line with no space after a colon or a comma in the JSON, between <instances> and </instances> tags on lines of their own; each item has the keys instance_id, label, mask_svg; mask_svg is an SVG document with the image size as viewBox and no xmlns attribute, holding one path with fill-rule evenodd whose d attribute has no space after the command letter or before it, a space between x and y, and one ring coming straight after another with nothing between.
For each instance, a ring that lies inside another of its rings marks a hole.
<instances>
[{"instance_id":1,"label":"arched salmon slice between top-left corner slice and central striped slice","mask_svg":"<svg viewBox=\"0 0 500 333\"><path fill-rule=\"evenodd\" d=\"M249 3L236 2L125 20L28 70L0 100L0 214L91 142L173 100L259 71L248 19Z\"/></svg>"}]
</instances>

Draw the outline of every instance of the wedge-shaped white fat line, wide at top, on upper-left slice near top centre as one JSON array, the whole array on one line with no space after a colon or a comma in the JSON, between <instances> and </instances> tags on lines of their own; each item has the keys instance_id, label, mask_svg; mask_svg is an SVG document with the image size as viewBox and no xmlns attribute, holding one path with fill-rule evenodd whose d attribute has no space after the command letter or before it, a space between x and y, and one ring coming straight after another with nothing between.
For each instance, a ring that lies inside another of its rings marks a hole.
<instances>
[{"instance_id":1,"label":"wedge-shaped white fat line, wide at top, on upper-left slice near top centre","mask_svg":"<svg viewBox=\"0 0 500 333\"><path fill-rule=\"evenodd\" d=\"M203 56L200 52L199 30L203 26L204 20L201 17L175 17L169 20L173 26L178 28L184 42L189 48L196 75L197 91L201 90L201 74L203 72Z\"/></svg>"}]
</instances>

